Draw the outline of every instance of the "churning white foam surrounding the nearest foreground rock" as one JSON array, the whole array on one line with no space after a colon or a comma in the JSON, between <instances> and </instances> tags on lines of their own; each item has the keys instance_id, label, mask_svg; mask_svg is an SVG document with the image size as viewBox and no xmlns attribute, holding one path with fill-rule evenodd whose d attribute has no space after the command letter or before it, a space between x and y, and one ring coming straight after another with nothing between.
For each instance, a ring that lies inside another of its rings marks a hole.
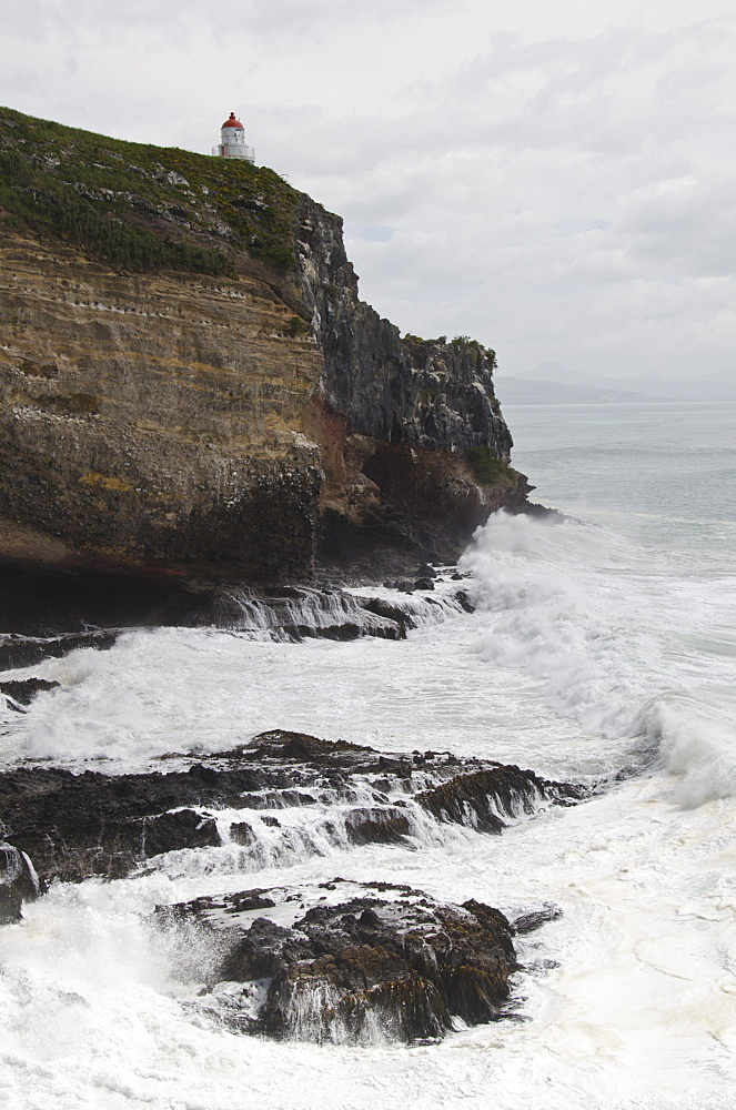
<instances>
[{"instance_id":1,"label":"churning white foam surrounding the nearest foreground rock","mask_svg":"<svg viewBox=\"0 0 736 1110\"><path fill-rule=\"evenodd\" d=\"M157 934L139 911L242 889L251 876L151 872L57 887L28 907L23 926L0 931L0 1066L32 1080L13 1092L19 1107L387 1110L397 1099L430 1104L431 1092L432 1104L450 1108L462 1096L481 1110L492 1090L502 1110L520 1098L538 1110L672 1110L688 1090L690 1108L725 1110L736 1079L736 887L725 861L717 884L712 871L735 821L723 807L675 814L649 780L500 838L466 831L463 851L457 842L421 854L372 846L326 865L312 858L262 871L263 887L310 885L339 870L359 881L391 874L441 898L477 897L508 911L563 904L565 916L521 947L524 962L559 961L518 981L533 1020L410 1050L259 1041L208 1019L198 993L216 959L212 942L195 929ZM325 894L334 900L339 891Z\"/></svg>"}]
</instances>

